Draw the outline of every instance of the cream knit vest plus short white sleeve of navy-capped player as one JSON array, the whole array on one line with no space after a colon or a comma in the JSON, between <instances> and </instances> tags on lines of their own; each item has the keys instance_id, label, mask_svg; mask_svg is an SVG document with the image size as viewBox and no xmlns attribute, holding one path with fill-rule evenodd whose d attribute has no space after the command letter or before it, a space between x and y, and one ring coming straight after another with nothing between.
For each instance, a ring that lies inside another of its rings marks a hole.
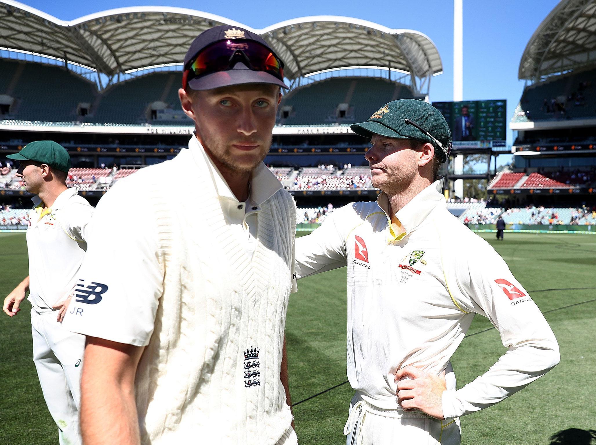
<instances>
[{"instance_id":1,"label":"cream knit vest plus short white sleeve of navy-capped player","mask_svg":"<svg viewBox=\"0 0 596 445\"><path fill-rule=\"evenodd\" d=\"M296 207L282 189L259 203L251 256L196 158L182 150L102 198L64 325L145 346L143 445L273 445L291 422L280 367ZM98 262L106 244L119 254Z\"/></svg>"}]
</instances>

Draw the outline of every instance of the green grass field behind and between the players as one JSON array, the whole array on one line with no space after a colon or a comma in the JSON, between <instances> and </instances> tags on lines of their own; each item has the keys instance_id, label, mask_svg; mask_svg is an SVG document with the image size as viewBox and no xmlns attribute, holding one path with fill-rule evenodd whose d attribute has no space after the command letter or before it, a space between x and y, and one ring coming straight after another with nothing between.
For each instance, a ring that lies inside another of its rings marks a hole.
<instances>
[{"instance_id":1,"label":"green grass field behind and between the players","mask_svg":"<svg viewBox=\"0 0 596 445\"><path fill-rule=\"evenodd\" d=\"M596 440L596 236L482 234L544 312L561 363L520 393L462 418L464 444L576 444ZM0 234L0 294L27 273L22 234ZM32 362L29 304L0 317L0 444L56 444ZM301 444L345 443L353 395L346 382L346 270L299 282L288 309L290 391ZM458 386L483 374L505 348L480 316L452 359Z\"/></svg>"}]
</instances>

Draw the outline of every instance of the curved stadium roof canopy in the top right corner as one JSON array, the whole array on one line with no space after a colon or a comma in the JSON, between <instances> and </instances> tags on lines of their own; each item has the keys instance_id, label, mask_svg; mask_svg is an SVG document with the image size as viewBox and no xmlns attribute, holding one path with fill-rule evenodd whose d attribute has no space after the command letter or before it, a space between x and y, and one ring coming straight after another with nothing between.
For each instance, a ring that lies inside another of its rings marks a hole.
<instances>
[{"instance_id":1,"label":"curved stadium roof canopy in the top right corner","mask_svg":"<svg viewBox=\"0 0 596 445\"><path fill-rule=\"evenodd\" d=\"M594 64L596 0L561 0L527 43L518 77L538 82Z\"/></svg>"}]
</instances>

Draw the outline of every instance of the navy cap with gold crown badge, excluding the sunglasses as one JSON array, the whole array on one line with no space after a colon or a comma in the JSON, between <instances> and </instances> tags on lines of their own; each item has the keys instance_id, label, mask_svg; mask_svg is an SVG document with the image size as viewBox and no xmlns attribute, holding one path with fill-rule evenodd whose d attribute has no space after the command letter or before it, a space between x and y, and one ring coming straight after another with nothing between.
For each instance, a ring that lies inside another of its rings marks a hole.
<instances>
[{"instance_id":1,"label":"navy cap with gold crown badge, excluding the sunglasses","mask_svg":"<svg viewBox=\"0 0 596 445\"><path fill-rule=\"evenodd\" d=\"M250 41L260 43L260 45L268 49L281 62L275 51L258 34L241 27L220 25L203 31L194 39L190 48L188 48L187 54L184 56L184 70L190 69L190 65L197 59L197 55L203 49L213 45L213 43L225 41L231 43L235 43L236 41L238 43ZM209 60L206 60L206 63L209 64ZM281 62L281 66L283 66L283 62ZM288 89L288 86L285 85L283 80L264 70L250 69L242 61L231 63L231 66L225 67L225 69L214 71L188 80L188 87L195 90L206 90L220 88L222 86L241 85L243 83L271 83L272 85Z\"/></svg>"}]
</instances>

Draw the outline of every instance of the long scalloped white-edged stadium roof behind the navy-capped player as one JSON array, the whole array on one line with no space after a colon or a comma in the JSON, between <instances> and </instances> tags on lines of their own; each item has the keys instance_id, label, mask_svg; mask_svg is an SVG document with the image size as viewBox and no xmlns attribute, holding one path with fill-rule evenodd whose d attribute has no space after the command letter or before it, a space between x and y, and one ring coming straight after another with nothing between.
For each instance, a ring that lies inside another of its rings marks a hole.
<instances>
[{"instance_id":1,"label":"long scalloped white-edged stadium roof behind the navy-capped player","mask_svg":"<svg viewBox=\"0 0 596 445\"><path fill-rule=\"evenodd\" d=\"M127 7L64 21L13 0L0 1L0 47L67 60L107 76L179 64L190 43L219 24L260 33L293 80L320 71L374 67L421 79L442 73L423 33L356 18L303 17L253 29L219 15L175 7Z\"/></svg>"}]
</instances>

